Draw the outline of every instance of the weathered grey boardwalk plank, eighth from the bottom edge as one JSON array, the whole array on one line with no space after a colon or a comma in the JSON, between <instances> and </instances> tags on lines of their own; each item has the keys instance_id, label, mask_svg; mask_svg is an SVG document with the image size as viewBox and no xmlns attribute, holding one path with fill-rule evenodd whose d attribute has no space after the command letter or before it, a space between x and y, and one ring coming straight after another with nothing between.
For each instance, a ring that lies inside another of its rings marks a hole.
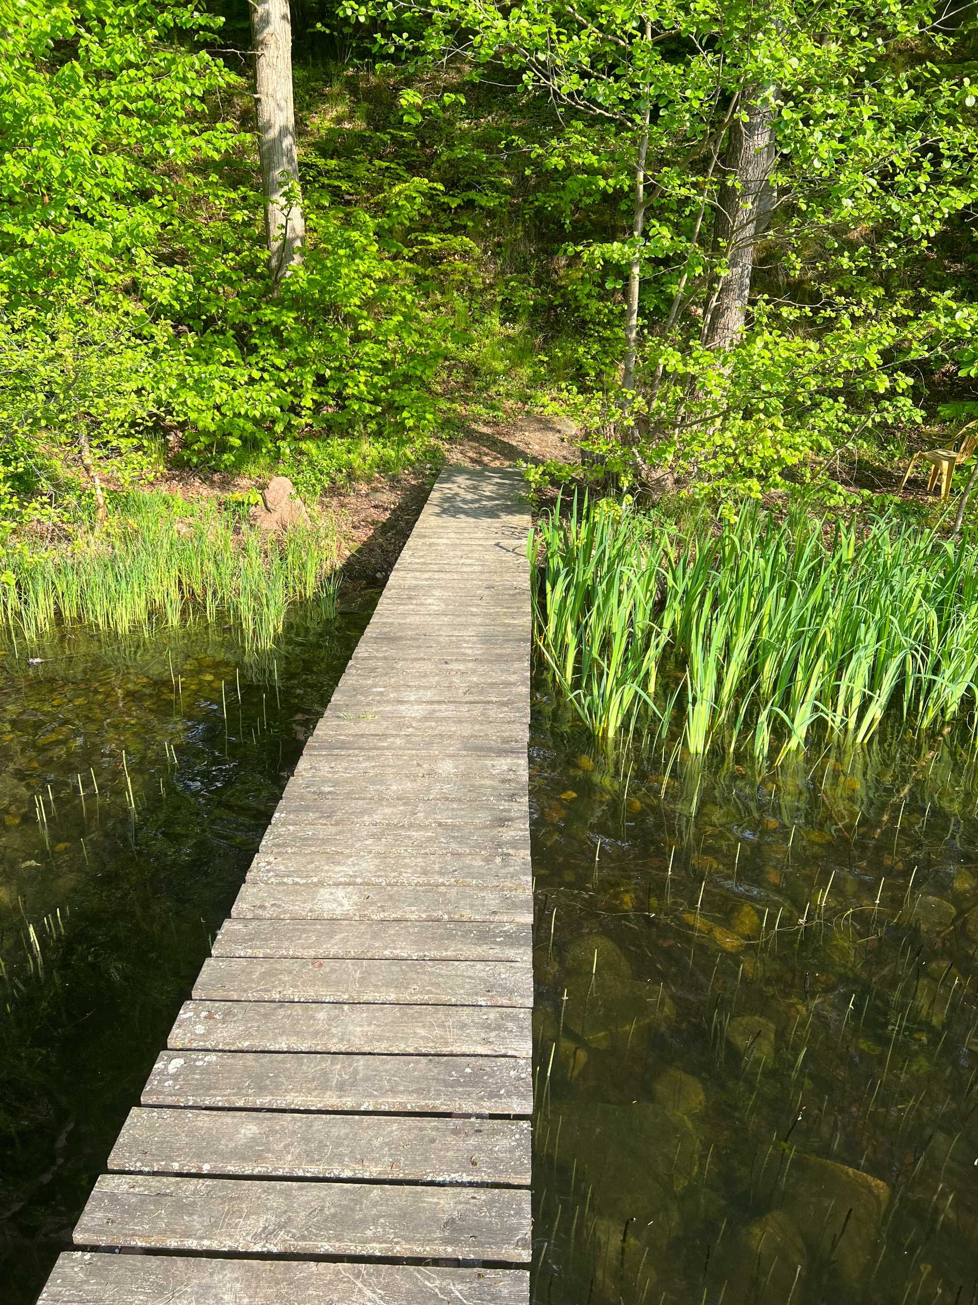
<instances>
[{"instance_id":1,"label":"weathered grey boardwalk plank, eighth from the bottom edge","mask_svg":"<svg viewBox=\"0 0 978 1305\"><path fill-rule=\"evenodd\" d=\"M516 889L248 881L231 915L267 920L503 920L528 924L533 920L533 904L527 893Z\"/></svg>"}]
</instances>

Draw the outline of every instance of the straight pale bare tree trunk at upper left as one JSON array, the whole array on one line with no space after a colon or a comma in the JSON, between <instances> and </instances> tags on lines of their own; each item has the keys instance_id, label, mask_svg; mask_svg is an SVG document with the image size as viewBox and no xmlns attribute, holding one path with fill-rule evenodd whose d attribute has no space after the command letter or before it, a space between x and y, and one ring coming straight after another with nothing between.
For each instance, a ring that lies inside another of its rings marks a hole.
<instances>
[{"instance_id":1,"label":"straight pale bare tree trunk at upper left","mask_svg":"<svg viewBox=\"0 0 978 1305\"><path fill-rule=\"evenodd\" d=\"M305 241L292 102L292 27L288 0L249 0L249 7L265 230L271 283L278 292L282 278L303 261Z\"/></svg>"}]
</instances>

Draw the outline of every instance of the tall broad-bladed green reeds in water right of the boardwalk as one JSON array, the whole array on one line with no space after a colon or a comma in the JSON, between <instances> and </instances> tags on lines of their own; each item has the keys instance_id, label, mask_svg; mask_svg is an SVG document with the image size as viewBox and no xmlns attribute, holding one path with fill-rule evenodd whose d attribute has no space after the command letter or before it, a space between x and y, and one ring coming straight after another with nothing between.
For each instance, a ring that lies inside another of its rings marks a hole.
<instances>
[{"instance_id":1,"label":"tall broad-bladed green reeds in water right of the boardwalk","mask_svg":"<svg viewBox=\"0 0 978 1305\"><path fill-rule=\"evenodd\" d=\"M974 714L978 544L889 518L866 529L750 506L719 534L576 499L542 519L536 637L599 736L681 724L694 756L778 760L812 732L865 744L887 714ZM971 719L974 726L974 720ZM975 731L971 729L974 744Z\"/></svg>"}]
</instances>

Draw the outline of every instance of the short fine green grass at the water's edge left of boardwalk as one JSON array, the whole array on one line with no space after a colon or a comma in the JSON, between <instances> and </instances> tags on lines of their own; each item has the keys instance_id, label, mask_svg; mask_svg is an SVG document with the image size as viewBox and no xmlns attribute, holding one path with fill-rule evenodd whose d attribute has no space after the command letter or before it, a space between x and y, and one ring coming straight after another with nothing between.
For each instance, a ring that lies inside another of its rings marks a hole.
<instances>
[{"instance_id":1,"label":"short fine green grass at the water's edge left of boardwalk","mask_svg":"<svg viewBox=\"0 0 978 1305\"><path fill-rule=\"evenodd\" d=\"M193 615L235 626L269 647L289 604L335 609L338 539L316 521L263 534L214 502L120 496L107 526L59 548L0 549L0 626L33 643L56 625L125 634ZM177 514L179 513L179 514Z\"/></svg>"}]
</instances>

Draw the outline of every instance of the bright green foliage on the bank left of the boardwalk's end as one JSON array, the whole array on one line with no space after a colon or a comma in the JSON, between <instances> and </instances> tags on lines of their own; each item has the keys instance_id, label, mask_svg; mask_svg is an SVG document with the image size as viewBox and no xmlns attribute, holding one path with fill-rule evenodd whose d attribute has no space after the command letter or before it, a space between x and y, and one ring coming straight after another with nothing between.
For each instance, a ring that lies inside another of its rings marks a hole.
<instances>
[{"instance_id":1,"label":"bright green foliage on the bank left of the boardwalk's end","mask_svg":"<svg viewBox=\"0 0 978 1305\"><path fill-rule=\"evenodd\" d=\"M437 273L450 254L413 241L438 187L389 176L368 211L333 207L310 177L306 258L273 298L253 144L226 116L244 85L201 48L219 20L189 0L7 3L8 514L83 502L82 441L113 483L164 454L226 468L305 450L322 485L344 440L398 450L347 471L403 461L434 427L458 335Z\"/></svg>"}]
</instances>

